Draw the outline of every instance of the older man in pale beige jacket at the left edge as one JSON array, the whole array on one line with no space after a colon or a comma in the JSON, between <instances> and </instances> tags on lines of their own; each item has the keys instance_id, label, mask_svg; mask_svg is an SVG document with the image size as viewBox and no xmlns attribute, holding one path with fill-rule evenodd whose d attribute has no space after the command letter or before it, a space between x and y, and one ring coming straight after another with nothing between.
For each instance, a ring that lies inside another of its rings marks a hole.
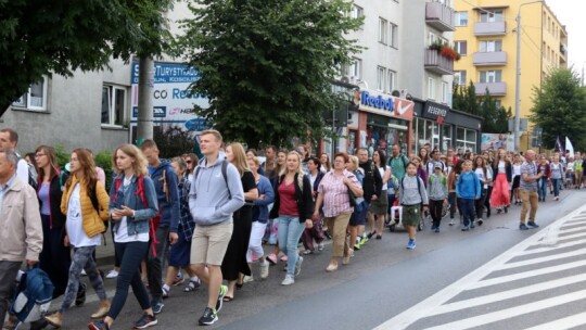
<instances>
[{"instance_id":1,"label":"older man in pale beige jacket at the left edge","mask_svg":"<svg viewBox=\"0 0 586 330\"><path fill-rule=\"evenodd\" d=\"M34 266L42 250L42 227L35 189L16 176L18 157L0 150L0 323L9 307L14 279L24 261Z\"/></svg>"}]
</instances>

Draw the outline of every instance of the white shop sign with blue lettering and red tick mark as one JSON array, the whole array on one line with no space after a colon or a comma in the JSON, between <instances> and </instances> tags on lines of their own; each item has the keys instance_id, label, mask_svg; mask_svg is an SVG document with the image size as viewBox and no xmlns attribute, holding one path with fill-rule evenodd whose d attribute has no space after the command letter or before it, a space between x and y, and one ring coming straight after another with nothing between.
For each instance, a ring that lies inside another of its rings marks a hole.
<instances>
[{"instance_id":1,"label":"white shop sign with blue lettering and red tick mark","mask_svg":"<svg viewBox=\"0 0 586 330\"><path fill-rule=\"evenodd\" d=\"M393 117L411 120L413 118L415 104L409 100L392 96L374 94L372 91L362 90L360 93L360 107L366 111L383 111L390 113ZM378 113L375 111L374 113Z\"/></svg>"}]
</instances>

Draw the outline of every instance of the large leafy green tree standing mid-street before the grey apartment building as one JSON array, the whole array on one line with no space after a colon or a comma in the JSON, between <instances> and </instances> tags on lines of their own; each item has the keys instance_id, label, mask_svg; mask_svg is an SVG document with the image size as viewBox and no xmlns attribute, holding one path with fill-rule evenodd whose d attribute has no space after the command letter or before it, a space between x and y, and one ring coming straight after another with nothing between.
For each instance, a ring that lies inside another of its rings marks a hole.
<instances>
[{"instance_id":1,"label":"large leafy green tree standing mid-street before the grey apartment building","mask_svg":"<svg viewBox=\"0 0 586 330\"><path fill-rule=\"evenodd\" d=\"M359 50L345 38L360 18L348 0L198 0L183 22L191 93L209 98L195 112L227 140L250 147L289 144L324 134L322 111L334 107L339 66Z\"/></svg>"}]
</instances>

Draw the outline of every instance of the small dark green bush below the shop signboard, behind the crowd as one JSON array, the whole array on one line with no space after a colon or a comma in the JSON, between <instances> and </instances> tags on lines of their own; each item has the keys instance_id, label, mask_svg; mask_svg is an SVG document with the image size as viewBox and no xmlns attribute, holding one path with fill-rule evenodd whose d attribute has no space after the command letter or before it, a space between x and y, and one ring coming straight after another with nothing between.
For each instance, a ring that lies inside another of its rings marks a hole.
<instances>
[{"instance_id":1,"label":"small dark green bush below the shop signboard, behind the crowd","mask_svg":"<svg viewBox=\"0 0 586 330\"><path fill-rule=\"evenodd\" d=\"M162 158L170 160L180 156L183 153L194 152L196 144L193 135L190 131L182 130L179 127L155 127L154 141L161 151Z\"/></svg>"}]
</instances>

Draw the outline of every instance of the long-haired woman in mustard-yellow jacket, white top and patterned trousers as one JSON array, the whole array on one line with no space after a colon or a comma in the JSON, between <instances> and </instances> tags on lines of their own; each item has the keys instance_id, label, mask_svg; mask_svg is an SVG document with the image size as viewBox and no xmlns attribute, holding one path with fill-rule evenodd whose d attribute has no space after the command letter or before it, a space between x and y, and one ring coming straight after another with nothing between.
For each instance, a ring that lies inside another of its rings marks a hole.
<instances>
[{"instance_id":1,"label":"long-haired woman in mustard-yellow jacket, white top and patterned trousers","mask_svg":"<svg viewBox=\"0 0 586 330\"><path fill-rule=\"evenodd\" d=\"M73 246L72 266L61 307L58 313L47 317L47 321L58 328L63 323L63 314L77 297L81 270L86 270L101 302L100 308L91 317L104 317L110 310L104 282L92 256L95 246L102 242L101 233L105 230L104 221L109 219L110 199L104 186L98 180L91 153L82 148L76 149L72 152L69 164L72 175L64 187L61 212L66 215L64 244Z\"/></svg>"}]
</instances>

